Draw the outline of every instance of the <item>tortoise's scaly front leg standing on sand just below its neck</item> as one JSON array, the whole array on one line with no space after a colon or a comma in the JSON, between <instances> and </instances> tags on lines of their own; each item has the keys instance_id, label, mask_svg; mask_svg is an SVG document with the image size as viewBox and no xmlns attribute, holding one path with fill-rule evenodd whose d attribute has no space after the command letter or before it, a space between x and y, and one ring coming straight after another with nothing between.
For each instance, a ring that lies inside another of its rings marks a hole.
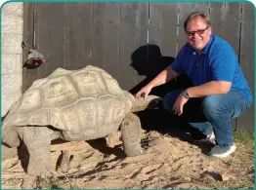
<instances>
[{"instance_id":1,"label":"tortoise's scaly front leg standing on sand just below its neck","mask_svg":"<svg viewBox=\"0 0 256 190\"><path fill-rule=\"evenodd\" d=\"M127 156L137 156L142 153L141 122L138 116L128 113L121 123L123 149Z\"/></svg>"}]
</instances>

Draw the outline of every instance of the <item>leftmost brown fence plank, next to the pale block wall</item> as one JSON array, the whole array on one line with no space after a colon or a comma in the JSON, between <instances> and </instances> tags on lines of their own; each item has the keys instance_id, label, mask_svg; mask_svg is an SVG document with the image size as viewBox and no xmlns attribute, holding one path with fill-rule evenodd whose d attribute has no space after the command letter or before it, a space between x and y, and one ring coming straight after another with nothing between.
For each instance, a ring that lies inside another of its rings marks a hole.
<instances>
[{"instance_id":1,"label":"leftmost brown fence plank, next to the pale block wall","mask_svg":"<svg viewBox=\"0 0 256 190\"><path fill-rule=\"evenodd\" d=\"M35 3L23 3L23 41L26 45L33 45L33 18L35 12ZM28 56L27 52L22 53L22 61L24 62ZM22 91L23 94L37 78L37 68L27 69L22 68Z\"/></svg>"}]
</instances>

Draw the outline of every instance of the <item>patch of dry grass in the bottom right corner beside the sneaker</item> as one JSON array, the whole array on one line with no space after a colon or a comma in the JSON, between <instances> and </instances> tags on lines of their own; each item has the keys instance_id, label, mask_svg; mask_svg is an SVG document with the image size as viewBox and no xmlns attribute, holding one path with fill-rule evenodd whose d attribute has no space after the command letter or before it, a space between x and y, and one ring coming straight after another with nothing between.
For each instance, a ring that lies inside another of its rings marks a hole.
<instances>
[{"instance_id":1,"label":"patch of dry grass in the bottom right corner beside the sneaker","mask_svg":"<svg viewBox=\"0 0 256 190\"><path fill-rule=\"evenodd\" d=\"M220 179L214 179L213 173L205 173L199 179L193 179L194 183L201 183L217 189L255 189L253 133L237 130L234 136L235 154L226 159L219 160L219 162L228 166L228 173L232 175L232 178L227 181L221 181ZM216 158L211 157L211 159Z\"/></svg>"}]
</instances>

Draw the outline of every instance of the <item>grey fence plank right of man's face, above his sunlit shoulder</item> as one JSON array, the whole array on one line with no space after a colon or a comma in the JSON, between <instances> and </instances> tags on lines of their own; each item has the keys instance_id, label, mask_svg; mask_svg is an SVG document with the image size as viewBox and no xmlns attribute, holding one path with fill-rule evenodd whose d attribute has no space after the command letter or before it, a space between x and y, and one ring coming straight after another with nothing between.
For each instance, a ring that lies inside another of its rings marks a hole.
<instances>
[{"instance_id":1,"label":"grey fence plank right of man's face, above his sunlit shoulder","mask_svg":"<svg viewBox=\"0 0 256 190\"><path fill-rule=\"evenodd\" d=\"M213 33L228 41L239 56L241 3L210 3ZM219 21L218 21L219 20Z\"/></svg>"}]
</instances>

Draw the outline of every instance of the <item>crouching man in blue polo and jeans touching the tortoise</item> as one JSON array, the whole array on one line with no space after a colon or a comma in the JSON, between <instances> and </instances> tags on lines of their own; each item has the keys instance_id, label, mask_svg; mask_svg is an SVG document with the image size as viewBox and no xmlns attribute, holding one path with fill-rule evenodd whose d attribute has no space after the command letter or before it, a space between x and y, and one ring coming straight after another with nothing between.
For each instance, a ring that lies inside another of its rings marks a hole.
<instances>
[{"instance_id":1,"label":"crouching man in blue polo and jeans touching the tortoise","mask_svg":"<svg viewBox=\"0 0 256 190\"><path fill-rule=\"evenodd\" d=\"M233 48L212 34L209 18L204 13L192 13L185 20L184 29L188 43L174 62L142 88L136 97L147 96L152 88L182 73L188 74L192 87L165 95L163 106L200 127L212 126L216 144L210 155L224 158L235 152L232 118L245 113L250 107L251 91Z\"/></svg>"}]
</instances>

